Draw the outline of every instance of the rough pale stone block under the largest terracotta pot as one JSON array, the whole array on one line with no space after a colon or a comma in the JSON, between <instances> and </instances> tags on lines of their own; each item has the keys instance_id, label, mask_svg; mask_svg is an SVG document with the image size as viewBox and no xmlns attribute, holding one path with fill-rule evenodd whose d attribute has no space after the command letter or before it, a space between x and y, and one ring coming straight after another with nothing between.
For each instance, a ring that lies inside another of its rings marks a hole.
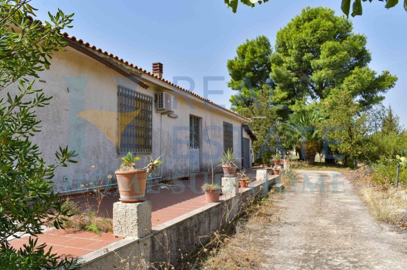
<instances>
[{"instance_id":1,"label":"rough pale stone block under the largest terracotta pot","mask_svg":"<svg viewBox=\"0 0 407 270\"><path fill-rule=\"evenodd\" d=\"M113 204L113 234L142 238L151 231L151 201Z\"/></svg>"}]
</instances>

